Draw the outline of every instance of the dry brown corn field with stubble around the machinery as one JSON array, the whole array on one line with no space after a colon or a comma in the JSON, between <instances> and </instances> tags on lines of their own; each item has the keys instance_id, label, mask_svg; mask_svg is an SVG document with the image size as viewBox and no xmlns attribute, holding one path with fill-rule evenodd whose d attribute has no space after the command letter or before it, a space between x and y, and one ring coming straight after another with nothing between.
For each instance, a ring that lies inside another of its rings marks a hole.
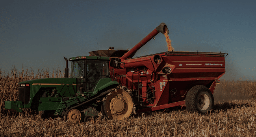
<instances>
[{"instance_id":1,"label":"dry brown corn field with stubble around the machinery","mask_svg":"<svg viewBox=\"0 0 256 137\"><path fill-rule=\"evenodd\" d=\"M0 70L0 136L3 137L254 137L256 136L256 81L222 80L213 94L215 105L208 114L174 107L133 115L121 121L100 117L74 123L61 118L41 119L40 113L24 109L9 112L4 101L18 100L17 84L38 78L63 77L48 68L10 74Z\"/></svg>"}]
</instances>

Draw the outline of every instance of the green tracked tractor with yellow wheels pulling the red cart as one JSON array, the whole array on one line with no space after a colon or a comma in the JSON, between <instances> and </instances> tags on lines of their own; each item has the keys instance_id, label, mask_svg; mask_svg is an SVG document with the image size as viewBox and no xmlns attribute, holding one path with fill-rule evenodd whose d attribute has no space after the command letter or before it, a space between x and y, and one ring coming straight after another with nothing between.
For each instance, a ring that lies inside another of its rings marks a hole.
<instances>
[{"instance_id":1,"label":"green tracked tractor with yellow wheels pulling the red cart","mask_svg":"<svg viewBox=\"0 0 256 137\"><path fill-rule=\"evenodd\" d=\"M100 115L122 119L132 114L132 97L117 88L119 83L110 78L110 57L70 58L70 78L68 60L65 60L65 78L22 81L18 84L19 101L5 101L5 108L12 112L31 108L43 111L42 117L45 118L59 116L78 122L90 121Z\"/></svg>"}]
</instances>

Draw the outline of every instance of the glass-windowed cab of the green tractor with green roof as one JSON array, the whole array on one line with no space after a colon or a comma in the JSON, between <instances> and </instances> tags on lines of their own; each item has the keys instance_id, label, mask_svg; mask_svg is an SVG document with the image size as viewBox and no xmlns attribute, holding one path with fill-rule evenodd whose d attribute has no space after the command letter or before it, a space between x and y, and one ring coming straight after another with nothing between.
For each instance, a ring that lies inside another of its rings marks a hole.
<instances>
[{"instance_id":1,"label":"glass-windowed cab of the green tractor with green roof","mask_svg":"<svg viewBox=\"0 0 256 137\"><path fill-rule=\"evenodd\" d=\"M77 91L93 92L100 79L109 79L109 57L80 56L70 58L70 77L77 78Z\"/></svg>"}]
</instances>

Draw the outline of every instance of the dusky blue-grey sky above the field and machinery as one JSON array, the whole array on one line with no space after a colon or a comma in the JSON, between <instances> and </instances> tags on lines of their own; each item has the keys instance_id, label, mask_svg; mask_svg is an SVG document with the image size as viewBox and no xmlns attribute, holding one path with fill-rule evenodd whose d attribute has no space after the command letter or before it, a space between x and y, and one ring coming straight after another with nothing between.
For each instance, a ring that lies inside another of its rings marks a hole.
<instances>
[{"instance_id":1,"label":"dusky blue-grey sky above the field and machinery","mask_svg":"<svg viewBox=\"0 0 256 137\"><path fill-rule=\"evenodd\" d=\"M174 50L228 53L223 78L256 78L255 7L255 0L1 0L0 69L63 70L63 56L131 49L165 22ZM165 51L160 33L135 56Z\"/></svg>"}]
</instances>

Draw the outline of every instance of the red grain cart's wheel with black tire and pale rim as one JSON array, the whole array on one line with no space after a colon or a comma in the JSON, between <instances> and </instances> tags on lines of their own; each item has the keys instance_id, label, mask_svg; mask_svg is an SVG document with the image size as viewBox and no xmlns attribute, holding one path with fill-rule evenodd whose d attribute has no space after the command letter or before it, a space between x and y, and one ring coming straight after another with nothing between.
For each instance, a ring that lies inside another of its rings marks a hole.
<instances>
[{"instance_id":1,"label":"red grain cart's wheel with black tire and pale rim","mask_svg":"<svg viewBox=\"0 0 256 137\"><path fill-rule=\"evenodd\" d=\"M189 112L200 112L202 114L211 110L214 104L211 90L203 85L192 87L186 95L186 108Z\"/></svg>"}]
</instances>

